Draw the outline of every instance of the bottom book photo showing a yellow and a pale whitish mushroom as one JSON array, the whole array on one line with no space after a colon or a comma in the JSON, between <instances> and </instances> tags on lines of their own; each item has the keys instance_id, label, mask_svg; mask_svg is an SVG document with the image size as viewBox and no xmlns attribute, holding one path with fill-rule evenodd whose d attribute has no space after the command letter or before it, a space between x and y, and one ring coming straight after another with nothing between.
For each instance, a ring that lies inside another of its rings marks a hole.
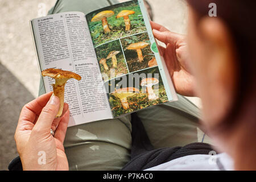
<instances>
[{"instance_id":1,"label":"bottom book photo showing a yellow and a pale whitish mushroom","mask_svg":"<svg viewBox=\"0 0 256 182\"><path fill-rule=\"evenodd\" d=\"M114 117L168 101L158 67L105 82Z\"/></svg>"}]
</instances>

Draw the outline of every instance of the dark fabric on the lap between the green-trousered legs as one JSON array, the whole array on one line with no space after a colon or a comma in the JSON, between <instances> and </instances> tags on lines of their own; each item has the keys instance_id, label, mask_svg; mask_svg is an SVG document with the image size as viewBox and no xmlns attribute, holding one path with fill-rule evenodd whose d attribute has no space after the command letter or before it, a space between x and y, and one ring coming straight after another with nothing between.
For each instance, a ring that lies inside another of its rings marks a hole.
<instances>
[{"instance_id":1,"label":"dark fabric on the lap between the green-trousered legs","mask_svg":"<svg viewBox=\"0 0 256 182\"><path fill-rule=\"evenodd\" d=\"M187 155L206 154L213 148L207 143L191 143L184 147L167 147L154 149L141 120L136 113L131 114L132 147L131 160L121 170L139 171L158 166Z\"/></svg>"}]
</instances>

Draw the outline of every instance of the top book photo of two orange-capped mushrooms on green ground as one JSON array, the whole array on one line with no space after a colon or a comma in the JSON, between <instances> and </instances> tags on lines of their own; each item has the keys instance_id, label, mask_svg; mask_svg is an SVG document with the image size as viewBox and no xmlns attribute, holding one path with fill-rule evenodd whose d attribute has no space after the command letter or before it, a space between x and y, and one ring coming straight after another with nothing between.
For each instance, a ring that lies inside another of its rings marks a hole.
<instances>
[{"instance_id":1,"label":"top book photo of two orange-capped mushrooms on green ground","mask_svg":"<svg viewBox=\"0 0 256 182\"><path fill-rule=\"evenodd\" d=\"M94 47L147 31L137 0L93 11L86 19Z\"/></svg>"}]
</instances>

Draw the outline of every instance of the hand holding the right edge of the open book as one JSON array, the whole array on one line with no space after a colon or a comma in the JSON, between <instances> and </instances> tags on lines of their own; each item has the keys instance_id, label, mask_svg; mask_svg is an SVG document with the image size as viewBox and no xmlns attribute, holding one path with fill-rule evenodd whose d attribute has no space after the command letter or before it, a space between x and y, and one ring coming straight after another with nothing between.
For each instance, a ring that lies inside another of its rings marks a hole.
<instances>
[{"instance_id":1,"label":"hand holding the right edge of the open book","mask_svg":"<svg viewBox=\"0 0 256 182\"><path fill-rule=\"evenodd\" d=\"M195 81L189 70L189 55L185 36L175 34L160 24L150 22L156 39L166 44L159 46L177 93L183 96L195 96Z\"/></svg>"}]
</instances>

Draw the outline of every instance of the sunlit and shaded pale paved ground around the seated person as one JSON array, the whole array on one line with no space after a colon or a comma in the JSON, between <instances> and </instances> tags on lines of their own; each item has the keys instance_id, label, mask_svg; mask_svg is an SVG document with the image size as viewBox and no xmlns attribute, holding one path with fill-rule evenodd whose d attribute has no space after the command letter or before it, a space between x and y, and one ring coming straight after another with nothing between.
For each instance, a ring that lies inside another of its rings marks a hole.
<instances>
[{"instance_id":1,"label":"sunlit and shaded pale paved ground around the seated person","mask_svg":"<svg viewBox=\"0 0 256 182\"><path fill-rule=\"evenodd\" d=\"M180 0L149 0L155 22L185 33L187 7ZM52 0L0 0L0 170L16 153L14 132L20 109L38 94L39 71L29 20L44 14ZM166 15L168 14L168 18ZM192 98L199 104L197 98Z\"/></svg>"}]
</instances>

